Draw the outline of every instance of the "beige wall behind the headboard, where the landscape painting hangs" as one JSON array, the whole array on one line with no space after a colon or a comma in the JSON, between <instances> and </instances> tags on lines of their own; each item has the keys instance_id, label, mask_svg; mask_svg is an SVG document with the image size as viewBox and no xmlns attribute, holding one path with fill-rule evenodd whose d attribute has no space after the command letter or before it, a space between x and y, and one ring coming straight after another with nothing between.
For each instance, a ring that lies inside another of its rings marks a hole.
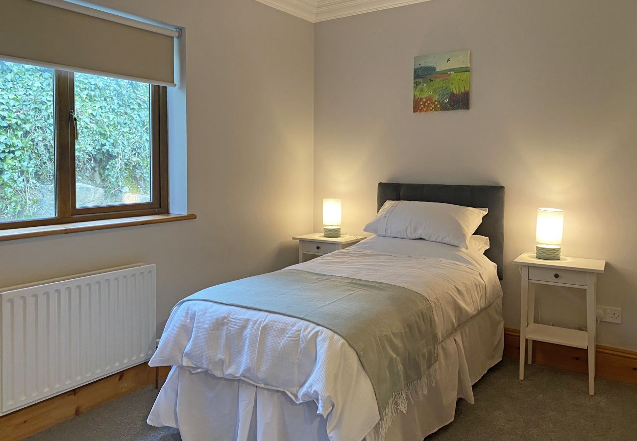
<instances>
[{"instance_id":1,"label":"beige wall behind the headboard, where the landscape painting hangs","mask_svg":"<svg viewBox=\"0 0 637 441\"><path fill-rule=\"evenodd\" d=\"M315 229L335 197L360 233L379 181L505 185L506 261L533 250L538 206L564 208L564 254L606 259L598 303L623 310L598 342L637 349L635 17L632 0L433 0L318 23ZM462 49L471 110L413 114L413 57ZM519 284L507 263L513 328ZM576 291L538 301L545 323L585 324Z\"/></svg>"}]
</instances>

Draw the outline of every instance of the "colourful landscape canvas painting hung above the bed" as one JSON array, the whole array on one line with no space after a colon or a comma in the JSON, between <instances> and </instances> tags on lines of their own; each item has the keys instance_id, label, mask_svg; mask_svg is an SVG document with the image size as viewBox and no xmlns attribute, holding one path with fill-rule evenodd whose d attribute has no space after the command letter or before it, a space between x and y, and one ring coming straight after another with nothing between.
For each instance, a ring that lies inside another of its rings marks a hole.
<instances>
[{"instance_id":1,"label":"colourful landscape canvas painting hung above the bed","mask_svg":"<svg viewBox=\"0 0 637 441\"><path fill-rule=\"evenodd\" d=\"M469 108L469 51L413 59L413 112Z\"/></svg>"}]
</instances>

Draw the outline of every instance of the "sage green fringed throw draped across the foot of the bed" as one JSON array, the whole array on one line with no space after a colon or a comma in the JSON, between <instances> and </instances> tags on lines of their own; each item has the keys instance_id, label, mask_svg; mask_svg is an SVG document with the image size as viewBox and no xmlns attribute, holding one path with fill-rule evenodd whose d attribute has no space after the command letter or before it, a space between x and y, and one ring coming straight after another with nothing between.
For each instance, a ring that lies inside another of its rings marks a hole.
<instances>
[{"instance_id":1,"label":"sage green fringed throw draped across the foot of the bed","mask_svg":"<svg viewBox=\"0 0 637 441\"><path fill-rule=\"evenodd\" d=\"M376 394L381 437L408 398L422 398L437 360L429 300L410 289L280 270L204 289L189 300L273 312L340 335L358 354Z\"/></svg>"}]
</instances>

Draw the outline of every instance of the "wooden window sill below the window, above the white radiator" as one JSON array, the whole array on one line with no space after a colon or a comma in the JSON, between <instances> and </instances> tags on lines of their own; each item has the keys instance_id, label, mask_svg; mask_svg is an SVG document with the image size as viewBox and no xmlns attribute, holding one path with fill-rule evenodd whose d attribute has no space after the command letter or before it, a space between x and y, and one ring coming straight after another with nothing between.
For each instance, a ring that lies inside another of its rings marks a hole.
<instances>
[{"instance_id":1,"label":"wooden window sill below the window, above the white radiator","mask_svg":"<svg viewBox=\"0 0 637 441\"><path fill-rule=\"evenodd\" d=\"M0 230L0 242L4 240L24 239L28 237L64 235L80 231L96 231L98 229L122 228L137 225L162 224L177 220L197 219L196 214L156 214L150 216L121 217L120 219L89 220L39 227L14 228Z\"/></svg>"}]
</instances>

